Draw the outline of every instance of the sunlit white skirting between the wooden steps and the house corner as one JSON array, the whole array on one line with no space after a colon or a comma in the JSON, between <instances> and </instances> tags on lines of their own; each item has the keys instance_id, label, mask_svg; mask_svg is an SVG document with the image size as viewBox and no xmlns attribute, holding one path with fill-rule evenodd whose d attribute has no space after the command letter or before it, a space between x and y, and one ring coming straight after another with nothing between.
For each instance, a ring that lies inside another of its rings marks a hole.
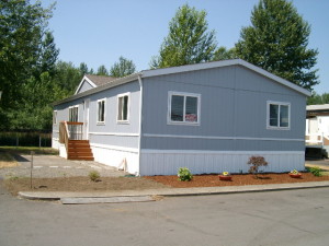
<instances>
[{"instance_id":1,"label":"sunlit white skirting between the wooden steps and the house corner","mask_svg":"<svg viewBox=\"0 0 329 246\"><path fill-rule=\"evenodd\" d=\"M133 148L90 144L95 162L125 168L131 174L139 174L138 150Z\"/></svg>"}]
</instances>

